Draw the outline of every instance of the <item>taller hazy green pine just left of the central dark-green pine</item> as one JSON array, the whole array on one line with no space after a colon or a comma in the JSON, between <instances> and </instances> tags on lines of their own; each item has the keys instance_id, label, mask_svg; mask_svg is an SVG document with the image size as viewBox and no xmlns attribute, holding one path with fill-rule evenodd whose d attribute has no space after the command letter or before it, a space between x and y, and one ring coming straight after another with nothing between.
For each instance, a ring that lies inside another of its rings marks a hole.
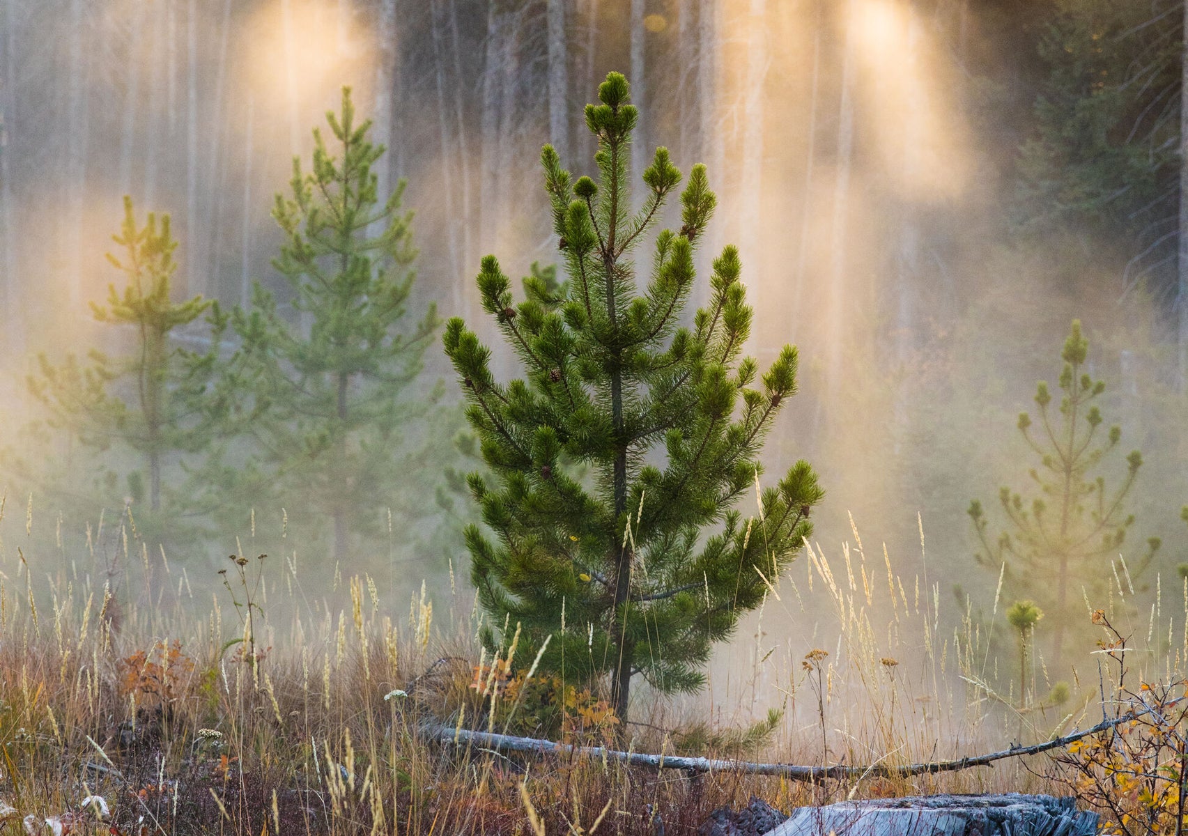
<instances>
[{"instance_id":1,"label":"taller hazy green pine just left of the central dark-green pine","mask_svg":"<svg viewBox=\"0 0 1188 836\"><path fill-rule=\"evenodd\" d=\"M410 391L438 318L430 304L405 324L417 252L404 184L378 194L384 147L368 140L371 121L356 121L349 88L327 120L333 150L315 129L311 170L293 160L291 194L272 210L285 235L273 266L292 316L259 284L251 310L232 315L242 343L227 387L241 394L239 423L258 461L223 466L217 481L232 498L272 495L329 520L341 559L353 527L378 533L386 511L412 507L425 487L413 444L449 435L429 420L434 393Z\"/></svg>"}]
</instances>

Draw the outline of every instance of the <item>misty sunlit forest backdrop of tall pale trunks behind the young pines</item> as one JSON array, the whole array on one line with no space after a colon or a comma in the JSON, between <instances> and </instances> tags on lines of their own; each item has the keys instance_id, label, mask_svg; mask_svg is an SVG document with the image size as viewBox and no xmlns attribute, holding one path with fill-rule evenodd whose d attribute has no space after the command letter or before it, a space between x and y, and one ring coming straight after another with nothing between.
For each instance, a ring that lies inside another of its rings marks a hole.
<instances>
[{"instance_id":1,"label":"misty sunlit forest backdrop of tall pale trunks behind the young pines","mask_svg":"<svg viewBox=\"0 0 1188 836\"><path fill-rule=\"evenodd\" d=\"M119 445L78 450L26 386L39 353L133 344L89 308L118 281L103 254L124 195L171 215L175 299L249 308L259 281L296 323L271 265L272 196L348 84L387 147L380 194L407 180L410 328L432 303L475 322L482 254L513 274L557 258L536 232L548 203L525 148L551 141L586 172L575 106L620 69L649 114L636 170L656 144L709 167L720 208L704 252L740 246L751 353L766 365L800 346L802 393L766 461L814 463L820 540L851 539L852 514L910 565L918 514L920 569L954 619L988 607L997 578L975 568L966 508L1026 481L1015 416L1079 317L1107 419L1148 461L1124 551L1137 560L1162 537L1156 568L1175 576L1188 559L1183 14L1170 0L0 0L0 428L7 513L27 506L32 538L4 549L69 562L89 544L114 564L129 532L153 559L169 540L170 526L134 527L145 500ZM173 344L210 338L197 317ZM424 359L402 395L435 404L404 428L407 449L437 451L407 471L418 505L356 507L352 526L373 536L339 559L316 498L187 506L163 553L191 580L230 552L296 551L337 593L348 570L404 596L422 578L462 583L470 511L446 470L470 464L444 452L462 423L436 343ZM497 354L497 374L511 363ZM202 452L169 461L166 489L195 490ZM807 642L810 622L765 628Z\"/></svg>"}]
</instances>

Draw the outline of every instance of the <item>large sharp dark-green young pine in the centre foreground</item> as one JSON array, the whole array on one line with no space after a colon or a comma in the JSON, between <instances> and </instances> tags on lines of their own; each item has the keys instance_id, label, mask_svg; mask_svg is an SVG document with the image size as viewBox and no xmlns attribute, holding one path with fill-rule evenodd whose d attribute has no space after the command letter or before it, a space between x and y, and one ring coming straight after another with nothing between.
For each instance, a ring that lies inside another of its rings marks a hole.
<instances>
[{"instance_id":1,"label":"large sharp dark-green young pine in the centre foreground","mask_svg":"<svg viewBox=\"0 0 1188 836\"><path fill-rule=\"evenodd\" d=\"M638 114L627 99L626 78L612 72L586 108L598 183L573 182L551 146L542 152L568 276L562 298L530 279L513 305L499 262L482 260L484 308L525 378L497 381L491 350L461 319L444 335L489 469L469 477L494 534L466 530L479 597L493 622L522 626L516 658L543 648L541 664L570 680L609 674L624 721L637 674L661 692L702 685L713 642L760 603L822 498L798 462L763 490L754 517L734 508L758 488L763 438L796 392L796 349L785 347L757 382L756 361L741 356L751 309L734 247L714 261L709 305L681 327L715 205L702 165L681 194L681 232L656 235L637 280L632 253L681 173L657 148L632 211ZM575 479L577 468L588 476ZM495 650L489 631L485 640Z\"/></svg>"}]
</instances>

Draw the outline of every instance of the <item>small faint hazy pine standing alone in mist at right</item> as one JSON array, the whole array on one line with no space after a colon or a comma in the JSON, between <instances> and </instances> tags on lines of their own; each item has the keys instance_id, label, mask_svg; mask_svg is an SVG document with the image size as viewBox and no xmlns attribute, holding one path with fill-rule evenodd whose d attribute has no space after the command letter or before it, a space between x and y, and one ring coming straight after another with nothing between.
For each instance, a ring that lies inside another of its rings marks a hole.
<instances>
[{"instance_id":1,"label":"small faint hazy pine standing alone in mist at right","mask_svg":"<svg viewBox=\"0 0 1188 836\"><path fill-rule=\"evenodd\" d=\"M1019 413L1019 432L1040 458L1038 467L1030 470L1038 495L1028 502L1020 493L1000 489L1006 528L993 542L981 502L973 500L968 511L981 546L977 560L1001 571L1011 591L1035 598L1056 620L1053 658L1063 652L1064 626L1083 615L1080 585L1093 588L1112 577L1106 570L1135 524L1125 500L1143 466L1142 454L1130 452L1121 483L1112 492L1106 490L1105 476L1094 475L1121 441L1121 428L1111 426L1102 438L1104 418L1094 401L1106 386L1085 372L1088 350L1081 323L1074 319L1060 355L1064 363L1060 416L1051 413L1053 394L1044 381L1036 386L1035 395L1038 432L1031 416ZM1158 539L1148 540L1145 556L1130 572L1145 569L1158 546Z\"/></svg>"}]
</instances>

